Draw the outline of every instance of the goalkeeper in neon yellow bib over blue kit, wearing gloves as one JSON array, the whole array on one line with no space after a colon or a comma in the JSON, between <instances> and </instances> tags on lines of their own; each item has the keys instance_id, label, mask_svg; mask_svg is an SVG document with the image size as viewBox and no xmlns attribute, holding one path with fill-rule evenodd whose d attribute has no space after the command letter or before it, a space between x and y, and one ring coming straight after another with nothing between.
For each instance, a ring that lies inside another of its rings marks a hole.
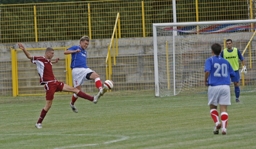
<instances>
[{"instance_id":1,"label":"goalkeeper in neon yellow bib over blue kit, wearing gloves","mask_svg":"<svg viewBox=\"0 0 256 149\"><path fill-rule=\"evenodd\" d=\"M233 43L231 39L226 40L226 46L221 53L220 56L224 59L228 60L232 68L235 70L236 76L231 78L231 82L234 82L235 86L235 94L236 94L236 103L240 103L239 96L240 96L240 88L239 88L239 81L240 81L240 75L239 75L239 62L238 59L241 60L243 64L243 68L241 72L244 72L244 74L247 73L246 66L245 66L245 60L240 53L240 51L233 47Z\"/></svg>"}]
</instances>

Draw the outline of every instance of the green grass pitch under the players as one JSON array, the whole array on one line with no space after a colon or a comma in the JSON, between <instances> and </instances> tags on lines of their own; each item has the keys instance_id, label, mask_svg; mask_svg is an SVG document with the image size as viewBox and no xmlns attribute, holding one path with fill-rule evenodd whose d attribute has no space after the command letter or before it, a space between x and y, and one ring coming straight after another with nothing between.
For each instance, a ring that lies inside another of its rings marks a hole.
<instances>
[{"instance_id":1,"label":"green grass pitch under the players","mask_svg":"<svg viewBox=\"0 0 256 149\"><path fill-rule=\"evenodd\" d=\"M0 148L256 148L255 92L231 93L227 135L214 135L207 94L155 97L107 92L97 104L55 95L37 129L45 96L0 98ZM219 111L219 109L218 109Z\"/></svg>"}]
</instances>

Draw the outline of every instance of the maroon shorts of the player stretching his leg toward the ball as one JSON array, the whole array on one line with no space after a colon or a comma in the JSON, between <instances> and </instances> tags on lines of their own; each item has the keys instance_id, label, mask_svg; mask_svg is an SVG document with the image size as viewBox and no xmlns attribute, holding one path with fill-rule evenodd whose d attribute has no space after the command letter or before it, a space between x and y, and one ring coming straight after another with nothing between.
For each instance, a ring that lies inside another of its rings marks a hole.
<instances>
[{"instance_id":1,"label":"maroon shorts of the player stretching his leg toward the ball","mask_svg":"<svg viewBox=\"0 0 256 149\"><path fill-rule=\"evenodd\" d=\"M44 85L44 89L46 91L46 100L52 100L54 98L55 92L61 92L64 87L64 83L56 81L56 82L47 82Z\"/></svg>"}]
</instances>

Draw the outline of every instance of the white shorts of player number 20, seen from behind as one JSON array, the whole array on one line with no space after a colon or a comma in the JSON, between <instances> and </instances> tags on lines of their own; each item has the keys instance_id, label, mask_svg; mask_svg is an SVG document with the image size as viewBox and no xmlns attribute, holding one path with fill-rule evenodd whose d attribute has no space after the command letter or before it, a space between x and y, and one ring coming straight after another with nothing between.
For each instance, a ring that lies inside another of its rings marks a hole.
<instances>
[{"instance_id":1,"label":"white shorts of player number 20, seen from behind","mask_svg":"<svg viewBox=\"0 0 256 149\"><path fill-rule=\"evenodd\" d=\"M208 105L231 105L229 85L217 85L208 87Z\"/></svg>"}]
</instances>

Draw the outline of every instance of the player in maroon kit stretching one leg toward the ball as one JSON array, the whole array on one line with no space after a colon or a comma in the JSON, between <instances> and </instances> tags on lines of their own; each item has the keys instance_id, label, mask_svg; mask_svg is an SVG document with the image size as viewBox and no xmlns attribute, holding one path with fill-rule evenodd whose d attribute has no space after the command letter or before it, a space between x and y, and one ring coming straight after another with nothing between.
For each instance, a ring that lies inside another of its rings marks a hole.
<instances>
[{"instance_id":1,"label":"player in maroon kit stretching one leg toward the ball","mask_svg":"<svg viewBox=\"0 0 256 149\"><path fill-rule=\"evenodd\" d=\"M100 98L99 96L100 94L92 97L81 92L79 89L76 89L67 84L64 84L63 82L59 82L56 80L52 72L52 63L57 63L58 60L60 59L56 58L55 61L51 62L51 59L54 56L54 49L52 49L51 47L48 47L46 48L45 54L43 57L35 57L35 56L31 56L22 44L18 43L18 45L19 45L19 48L23 50L27 58L30 59L32 63L37 65L37 71L40 76L40 85L44 85L44 89L46 91L46 104L36 123L36 128L42 128L42 121L46 113L48 112L48 110L51 108L52 100L54 98L53 96L55 92L60 92L60 91L72 92L81 98L92 101L93 103L98 102L98 99Z\"/></svg>"}]
</instances>

